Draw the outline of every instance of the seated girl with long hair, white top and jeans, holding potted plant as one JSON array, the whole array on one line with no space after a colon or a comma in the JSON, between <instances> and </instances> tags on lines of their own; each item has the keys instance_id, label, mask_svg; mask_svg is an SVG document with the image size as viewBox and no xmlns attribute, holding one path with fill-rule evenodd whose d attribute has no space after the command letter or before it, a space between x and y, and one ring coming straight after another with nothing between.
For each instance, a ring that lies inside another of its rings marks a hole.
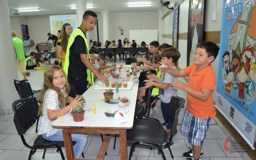
<instances>
[{"instance_id":1,"label":"seated girl with long hair, white top and jeans, holding potted plant","mask_svg":"<svg viewBox=\"0 0 256 160\"><path fill-rule=\"evenodd\" d=\"M70 91L67 83L67 75L58 65L47 67L44 75L44 84L41 92L40 106L38 110L38 134L46 140L64 141L62 129L53 128L54 121L67 112L72 107L76 107L82 102L78 96L72 98L68 96ZM69 105L65 106L66 103ZM87 142L85 134L71 134L72 140L76 141L74 147L75 158L78 159Z\"/></svg>"}]
</instances>

